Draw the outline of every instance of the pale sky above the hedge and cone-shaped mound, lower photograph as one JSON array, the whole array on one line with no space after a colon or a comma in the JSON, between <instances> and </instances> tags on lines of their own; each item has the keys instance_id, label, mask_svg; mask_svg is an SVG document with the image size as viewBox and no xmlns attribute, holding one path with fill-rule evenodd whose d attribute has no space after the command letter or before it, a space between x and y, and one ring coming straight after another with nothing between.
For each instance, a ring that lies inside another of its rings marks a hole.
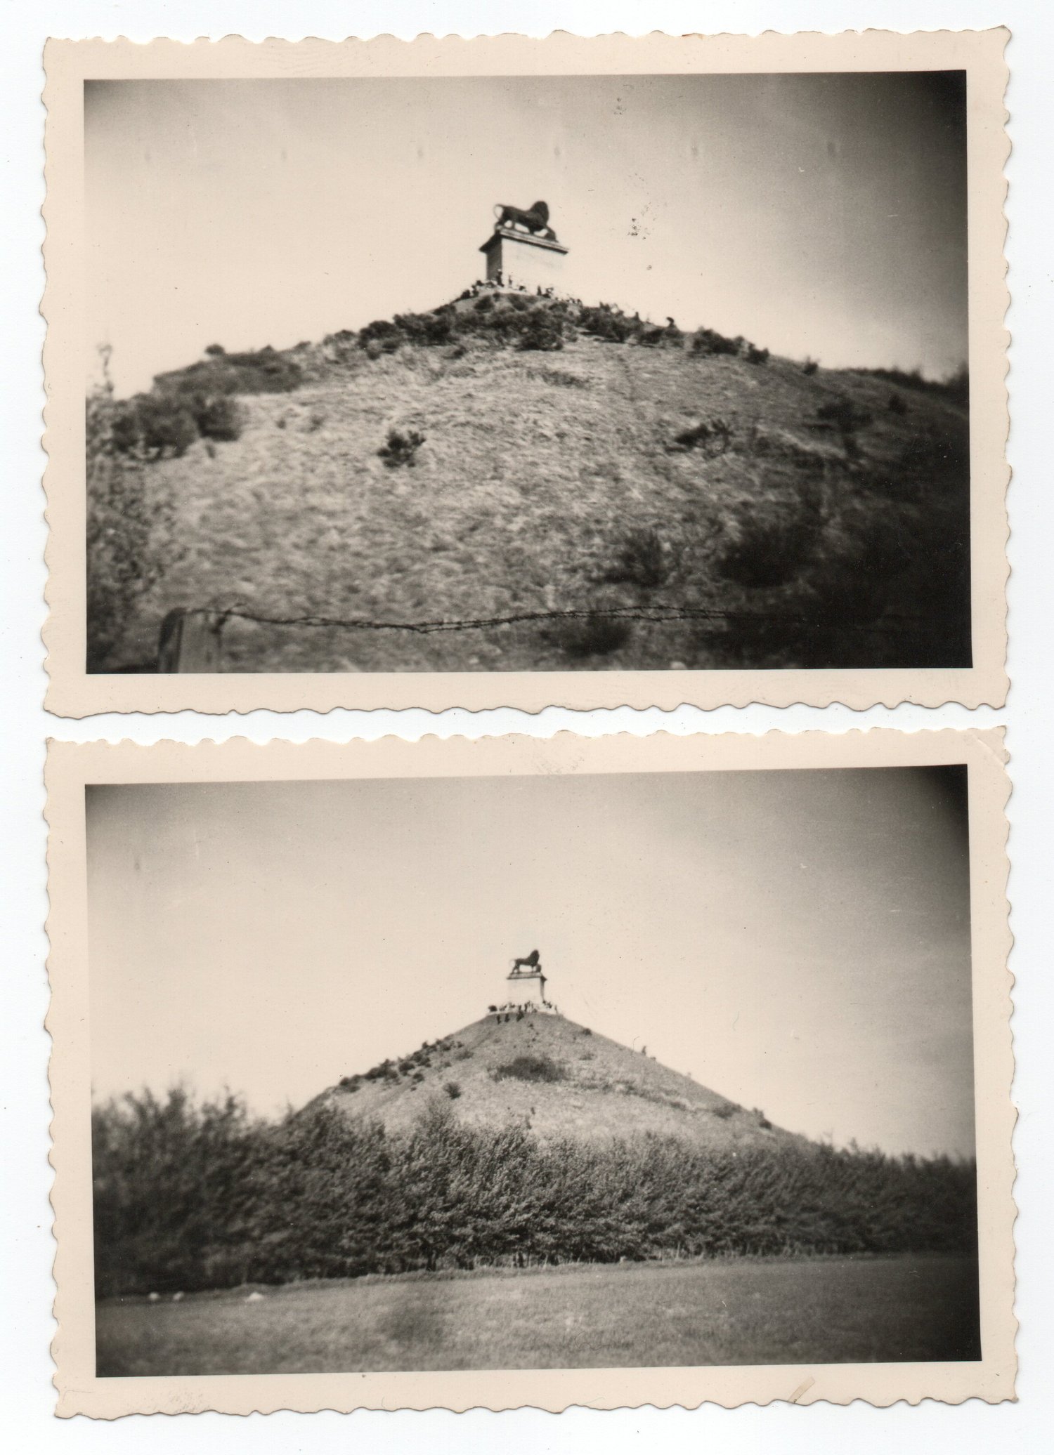
<instances>
[{"instance_id":1,"label":"pale sky above the hedge and cone-shaped mound, lower photograph","mask_svg":"<svg viewBox=\"0 0 1054 1455\"><path fill-rule=\"evenodd\" d=\"M965 770L87 789L93 1094L272 1115L560 1011L773 1122L970 1155Z\"/></svg>"}]
</instances>

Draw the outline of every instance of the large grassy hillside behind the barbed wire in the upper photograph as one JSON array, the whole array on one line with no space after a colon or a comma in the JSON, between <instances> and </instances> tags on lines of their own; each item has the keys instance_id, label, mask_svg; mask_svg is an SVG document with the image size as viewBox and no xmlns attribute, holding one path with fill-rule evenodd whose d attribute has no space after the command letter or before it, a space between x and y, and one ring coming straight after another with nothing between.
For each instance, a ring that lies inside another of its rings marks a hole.
<instances>
[{"instance_id":1,"label":"large grassy hillside behind the barbed wire in the upper photograph","mask_svg":"<svg viewBox=\"0 0 1054 1455\"><path fill-rule=\"evenodd\" d=\"M475 332L275 355L275 387L298 387L243 396L240 438L147 467L176 525L122 659L156 649L169 610L204 607L371 623L692 613L432 634L231 618L227 671L968 661L954 396L683 338L600 339L574 314L562 329L552 352ZM221 364L160 384L230 390ZM392 431L424 442L384 458Z\"/></svg>"}]
</instances>

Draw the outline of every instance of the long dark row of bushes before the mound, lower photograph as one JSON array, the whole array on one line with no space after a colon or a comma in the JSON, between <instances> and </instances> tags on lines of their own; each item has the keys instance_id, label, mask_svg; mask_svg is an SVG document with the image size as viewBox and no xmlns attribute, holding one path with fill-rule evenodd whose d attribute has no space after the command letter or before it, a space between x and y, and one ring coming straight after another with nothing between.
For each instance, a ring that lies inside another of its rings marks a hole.
<instances>
[{"instance_id":1,"label":"long dark row of bushes before the mound, lower photograph","mask_svg":"<svg viewBox=\"0 0 1054 1455\"><path fill-rule=\"evenodd\" d=\"M99 1296L411 1269L728 1253L972 1251L975 1171L807 1142L540 1142L450 1100L406 1132L183 1091L93 1115Z\"/></svg>"}]
</instances>

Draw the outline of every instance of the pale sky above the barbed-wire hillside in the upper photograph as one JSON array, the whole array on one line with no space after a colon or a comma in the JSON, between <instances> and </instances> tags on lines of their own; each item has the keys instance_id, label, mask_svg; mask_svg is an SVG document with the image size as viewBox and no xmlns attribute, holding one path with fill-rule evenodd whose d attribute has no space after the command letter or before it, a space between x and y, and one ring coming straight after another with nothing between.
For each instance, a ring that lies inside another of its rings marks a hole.
<instances>
[{"instance_id":1,"label":"pale sky above the barbed-wire hillside in the upper photograph","mask_svg":"<svg viewBox=\"0 0 1054 1455\"><path fill-rule=\"evenodd\" d=\"M89 81L89 361L127 394L437 307L543 198L587 303L942 377L964 128L962 73Z\"/></svg>"}]
</instances>

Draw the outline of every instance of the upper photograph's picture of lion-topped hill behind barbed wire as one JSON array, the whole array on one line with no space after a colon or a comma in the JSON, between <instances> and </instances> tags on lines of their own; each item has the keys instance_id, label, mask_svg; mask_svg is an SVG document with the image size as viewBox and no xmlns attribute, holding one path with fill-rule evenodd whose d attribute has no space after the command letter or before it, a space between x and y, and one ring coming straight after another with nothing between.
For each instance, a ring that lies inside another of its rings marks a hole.
<instances>
[{"instance_id":1,"label":"upper photograph's picture of lion-topped hill behind barbed wire","mask_svg":"<svg viewBox=\"0 0 1054 1455\"><path fill-rule=\"evenodd\" d=\"M1002 372L945 51L89 74L83 672L965 681Z\"/></svg>"}]
</instances>

